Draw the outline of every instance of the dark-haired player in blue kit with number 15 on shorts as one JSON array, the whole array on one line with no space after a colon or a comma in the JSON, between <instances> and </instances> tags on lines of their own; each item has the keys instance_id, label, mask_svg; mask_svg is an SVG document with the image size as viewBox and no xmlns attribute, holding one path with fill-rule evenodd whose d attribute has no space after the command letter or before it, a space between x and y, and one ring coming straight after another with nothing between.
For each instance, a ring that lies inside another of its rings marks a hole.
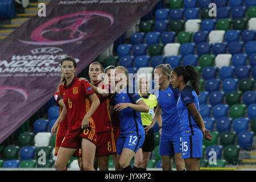
<instances>
[{"instance_id":1,"label":"dark-haired player in blue kit with number 15 on shorts","mask_svg":"<svg viewBox=\"0 0 256 182\"><path fill-rule=\"evenodd\" d=\"M188 81L191 82L192 87L187 85ZM178 66L171 73L172 86L180 90L177 111L182 136L182 158L188 171L200 170L203 138L212 139L199 113L198 81L199 77L191 65Z\"/></svg>"}]
</instances>

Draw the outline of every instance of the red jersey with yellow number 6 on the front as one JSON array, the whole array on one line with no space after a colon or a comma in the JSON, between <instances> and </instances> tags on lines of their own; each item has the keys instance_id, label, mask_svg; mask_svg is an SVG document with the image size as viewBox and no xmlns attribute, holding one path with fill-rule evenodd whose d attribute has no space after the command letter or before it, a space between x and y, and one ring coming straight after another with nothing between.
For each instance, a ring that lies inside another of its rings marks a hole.
<instances>
[{"instance_id":1,"label":"red jersey with yellow number 6 on the front","mask_svg":"<svg viewBox=\"0 0 256 182\"><path fill-rule=\"evenodd\" d=\"M82 119L90 109L88 96L94 91L89 82L74 77L68 86L60 85L60 93L68 111L68 131L72 133L81 129ZM92 117L89 118L89 127L95 129Z\"/></svg>"}]
</instances>

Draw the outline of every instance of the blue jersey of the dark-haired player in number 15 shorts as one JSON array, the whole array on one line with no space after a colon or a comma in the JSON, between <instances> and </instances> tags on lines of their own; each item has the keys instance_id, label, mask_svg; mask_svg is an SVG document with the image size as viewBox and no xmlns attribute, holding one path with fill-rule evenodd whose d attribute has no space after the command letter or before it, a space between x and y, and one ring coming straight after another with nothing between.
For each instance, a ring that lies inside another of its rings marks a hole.
<instances>
[{"instance_id":1,"label":"blue jersey of the dark-haired player in number 15 shorts","mask_svg":"<svg viewBox=\"0 0 256 182\"><path fill-rule=\"evenodd\" d=\"M195 103L197 110L199 110L199 101L195 90L191 86L185 86L181 91L177 101L177 110L180 119L180 131L182 136L194 135L201 133L201 130L195 120L193 119L187 104Z\"/></svg>"}]
</instances>

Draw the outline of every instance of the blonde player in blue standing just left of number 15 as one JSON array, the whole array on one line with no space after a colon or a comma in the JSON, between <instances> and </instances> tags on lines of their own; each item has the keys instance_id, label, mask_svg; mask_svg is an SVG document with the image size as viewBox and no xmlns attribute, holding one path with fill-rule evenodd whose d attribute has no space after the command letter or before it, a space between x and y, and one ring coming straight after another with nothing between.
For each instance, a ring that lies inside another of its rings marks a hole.
<instances>
[{"instance_id":1,"label":"blonde player in blue standing just left of number 15","mask_svg":"<svg viewBox=\"0 0 256 182\"><path fill-rule=\"evenodd\" d=\"M159 154L162 158L163 171L172 170L172 159L175 156L176 169L182 171L185 169L182 159L181 134L179 129L179 116L177 114L177 98L179 90L172 88L171 66L169 64L160 64L155 68L155 76L159 76L159 96L158 107L155 117L150 126L145 128L147 131L155 125L156 120L162 113L162 134L159 144Z\"/></svg>"}]
</instances>

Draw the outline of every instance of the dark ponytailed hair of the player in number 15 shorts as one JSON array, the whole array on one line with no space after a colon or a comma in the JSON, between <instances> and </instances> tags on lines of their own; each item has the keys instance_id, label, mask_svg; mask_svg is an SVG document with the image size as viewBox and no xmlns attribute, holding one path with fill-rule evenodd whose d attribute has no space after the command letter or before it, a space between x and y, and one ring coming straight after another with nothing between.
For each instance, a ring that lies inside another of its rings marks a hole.
<instances>
[{"instance_id":1,"label":"dark ponytailed hair of the player in number 15 shorts","mask_svg":"<svg viewBox=\"0 0 256 182\"><path fill-rule=\"evenodd\" d=\"M185 67L178 66L175 67L173 71L176 73L177 77L183 76L185 84L190 81L192 88L195 90L196 94L199 95L199 76L191 65L187 65Z\"/></svg>"}]
</instances>

